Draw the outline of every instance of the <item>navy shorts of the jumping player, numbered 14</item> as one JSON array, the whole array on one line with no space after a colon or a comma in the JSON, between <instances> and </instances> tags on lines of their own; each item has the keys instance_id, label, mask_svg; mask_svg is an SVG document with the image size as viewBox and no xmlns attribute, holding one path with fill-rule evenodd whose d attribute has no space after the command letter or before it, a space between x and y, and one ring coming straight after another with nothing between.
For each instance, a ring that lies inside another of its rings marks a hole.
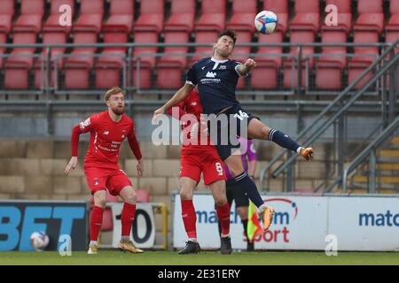
<instances>
[{"instance_id":1,"label":"navy shorts of the jumping player, numbered 14","mask_svg":"<svg viewBox=\"0 0 399 283\"><path fill-rule=\"evenodd\" d=\"M222 115L224 115L223 118ZM225 120L223 120L223 123L221 120L224 118ZM237 104L218 113L214 119L217 120L212 121L212 119L210 119L208 121L209 135L215 144L219 157L224 161L235 151L239 150L239 139L237 136L247 139L249 122L252 119L259 118L254 117L251 113L243 111L241 105ZM245 133L241 133L242 131L245 131Z\"/></svg>"}]
</instances>

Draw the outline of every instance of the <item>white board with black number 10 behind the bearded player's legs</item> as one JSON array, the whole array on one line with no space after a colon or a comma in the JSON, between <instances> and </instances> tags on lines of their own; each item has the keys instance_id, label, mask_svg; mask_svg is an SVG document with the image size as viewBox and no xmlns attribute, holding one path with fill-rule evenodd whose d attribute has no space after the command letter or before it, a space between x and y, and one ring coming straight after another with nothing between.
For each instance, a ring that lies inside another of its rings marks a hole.
<instances>
[{"instance_id":1,"label":"white board with black number 10 behind the bearded player's legs","mask_svg":"<svg viewBox=\"0 0 399 283\"><path fill-rule=\"evenodd\" d=\"M123 203L109 203L113 212L113 248L119 247L121 240L121 210ZM137 203L135 221L130 231L130 239L137 248L153 248L155 244L155 220L151 203Z\"/></svg>"}]
</instances>

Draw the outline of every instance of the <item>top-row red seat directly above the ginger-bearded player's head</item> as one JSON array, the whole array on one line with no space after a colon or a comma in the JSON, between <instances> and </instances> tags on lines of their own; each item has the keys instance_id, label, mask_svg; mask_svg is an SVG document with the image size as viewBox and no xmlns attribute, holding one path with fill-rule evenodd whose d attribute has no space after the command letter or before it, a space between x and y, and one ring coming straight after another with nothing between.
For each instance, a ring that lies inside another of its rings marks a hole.
<instances>
[{"instance_id":1,"label":"top-row red seat directly above the ginger-bearded player's head","mask_svg":"<svg viewBox=\"0 0 399 283\"><path fill-rule=\"evenodd\" d=\"M126 32L130 33L133 27L134 0L112 0L110 17L106 19L103 32Z\"/></svg>"}]
</instances>

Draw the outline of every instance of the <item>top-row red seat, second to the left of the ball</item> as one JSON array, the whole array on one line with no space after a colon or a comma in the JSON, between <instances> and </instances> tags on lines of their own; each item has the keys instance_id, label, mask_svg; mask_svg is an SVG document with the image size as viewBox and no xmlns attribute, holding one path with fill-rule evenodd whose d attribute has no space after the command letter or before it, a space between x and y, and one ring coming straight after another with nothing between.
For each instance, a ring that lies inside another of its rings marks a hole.
<instances>
[{"instance_id":1,"label":"top-row red seat, second to the left of the ball","mask_svg":"<svg viewBox=\"0 0 399 283\"><path fill-rule=\"evenodd\" d=\"M201 16L195 24L196 32L222 31L226 22L226 0L203 0Z\"/></svg>"}]
</instances>

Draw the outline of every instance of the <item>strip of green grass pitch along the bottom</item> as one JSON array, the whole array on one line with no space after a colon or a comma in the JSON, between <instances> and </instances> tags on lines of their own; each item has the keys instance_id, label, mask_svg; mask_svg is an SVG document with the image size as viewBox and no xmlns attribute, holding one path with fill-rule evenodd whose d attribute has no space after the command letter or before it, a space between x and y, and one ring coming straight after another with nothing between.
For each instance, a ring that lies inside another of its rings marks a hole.
<instances>
[{"instance_id":1,"label":"strip of green grass pitch along the bottom","mask_svg":"<svg viewBox=\"0 0 399 283\"><path fill-rule=\"evenodd\" d=\"M72 256L59 256L58 252L0 252L0 264L133 264L133 265L275 265L275 264L395 264L399 265L399 252L338 252L326 256L324 252L233 252L221 255L203 251L198 255L178 255L172 251L145 251L129 254L117 250L100 250L97 255L73 252Z\"/></svg>"}]
</instances>

